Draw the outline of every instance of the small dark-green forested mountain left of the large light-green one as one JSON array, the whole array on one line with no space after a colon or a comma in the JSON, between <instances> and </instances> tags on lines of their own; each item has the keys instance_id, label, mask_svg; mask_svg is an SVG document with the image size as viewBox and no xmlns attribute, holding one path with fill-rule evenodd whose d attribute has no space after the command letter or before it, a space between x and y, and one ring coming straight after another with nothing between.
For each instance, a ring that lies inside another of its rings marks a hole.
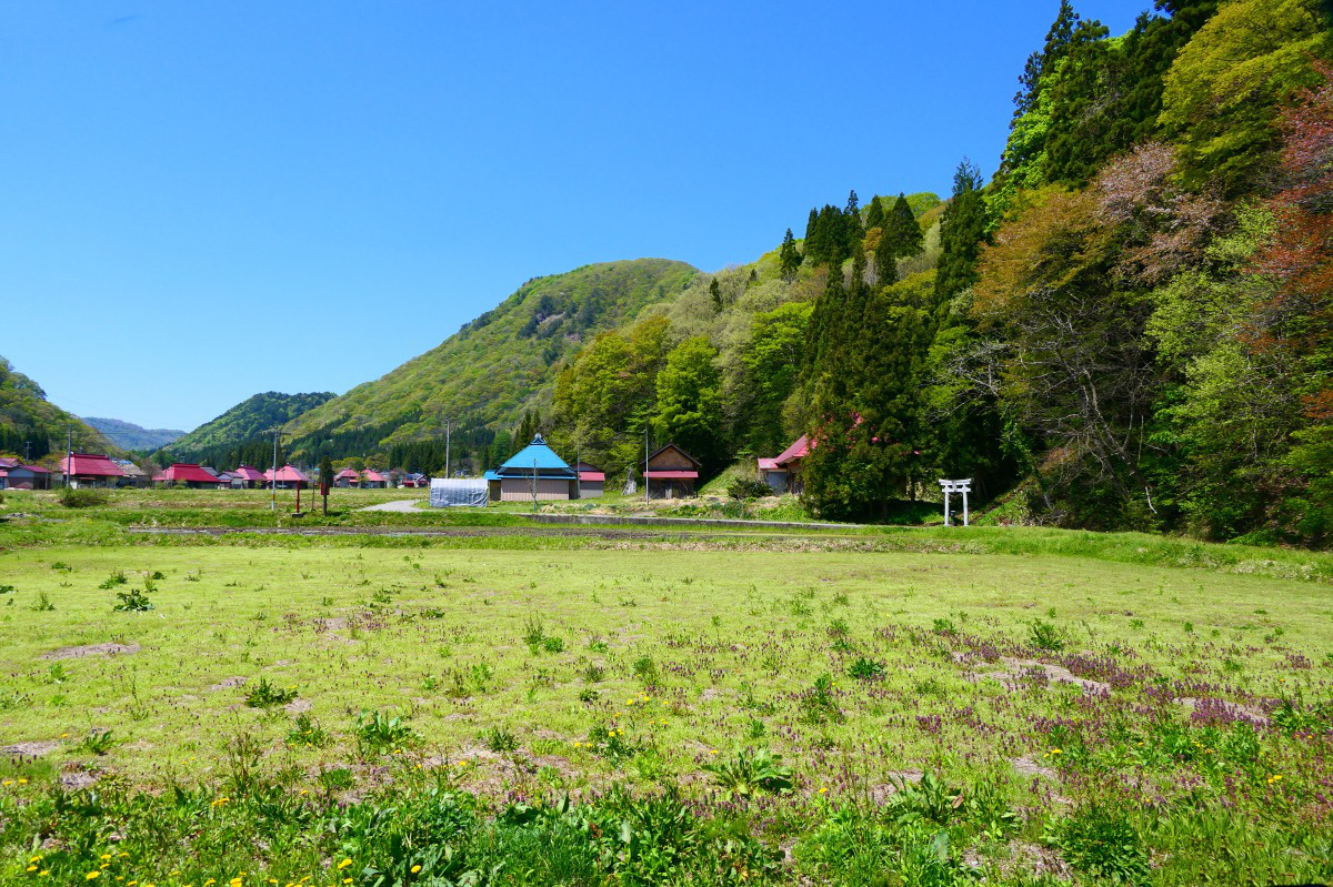
<instances>
[{"instance_id":1,"label":"small dark-green forested mountain left of the large light-green one","mask_svg":"<svg viewBox=\"0 0 1333 887\"><path fill-rule=\"evenodd\" d=\"M205 462L223 467L236 467L239 462L267 465L272 454L272 438L260 438L332 397L331 392L256 394L163 447L157 453L157 461L164 465L173 461Z\"/></svg>"}]
</instances>

